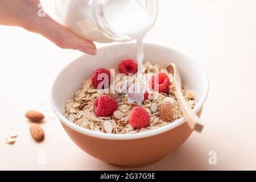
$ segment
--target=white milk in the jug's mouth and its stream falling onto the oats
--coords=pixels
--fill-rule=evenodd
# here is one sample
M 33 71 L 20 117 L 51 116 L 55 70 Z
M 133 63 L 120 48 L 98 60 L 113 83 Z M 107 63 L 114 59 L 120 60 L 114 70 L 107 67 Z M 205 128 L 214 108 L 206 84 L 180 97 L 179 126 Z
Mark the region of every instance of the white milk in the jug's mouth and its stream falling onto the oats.
M 104 14 L 106 23 L 111 30 L 117 35 L 125 35 L 137 40 L 137 63 L 138 63 L 138 92 L 137 103 L 143 102 L 141 93 L 142 87 L 142 70 L 143 70 L 143 39 L 147 32 L 151 29 L 153 20 L 147 13 L 146 9 L 139 1 L 134 0 L 109 0 L 104 5 Z M 129 97 L 128 97 L 129 98 Z M 129 102 L 133 102 L 132 98 Z

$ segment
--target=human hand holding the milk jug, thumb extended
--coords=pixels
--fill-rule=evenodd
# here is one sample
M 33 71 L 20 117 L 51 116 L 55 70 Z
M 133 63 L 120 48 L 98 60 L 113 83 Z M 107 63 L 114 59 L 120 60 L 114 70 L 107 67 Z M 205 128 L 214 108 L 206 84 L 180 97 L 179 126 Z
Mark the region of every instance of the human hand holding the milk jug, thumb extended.
M 0 24 L 18 26 L 43 35 L 60 48 L 96 55 L 92 41 L 81 38 L 49 15 L 39 16 L 39 0 L 0 0 Z

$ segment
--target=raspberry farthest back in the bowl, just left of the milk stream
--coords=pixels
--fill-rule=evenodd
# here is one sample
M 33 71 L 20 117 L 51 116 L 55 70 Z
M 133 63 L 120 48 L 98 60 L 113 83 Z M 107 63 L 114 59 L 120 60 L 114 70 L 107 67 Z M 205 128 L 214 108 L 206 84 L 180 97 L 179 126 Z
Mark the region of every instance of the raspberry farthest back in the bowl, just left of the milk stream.
M 123 60 L 118 66 L 119 72 L 129 75 L 129 73 L 138 72 L 138 64 L 132 59 Z

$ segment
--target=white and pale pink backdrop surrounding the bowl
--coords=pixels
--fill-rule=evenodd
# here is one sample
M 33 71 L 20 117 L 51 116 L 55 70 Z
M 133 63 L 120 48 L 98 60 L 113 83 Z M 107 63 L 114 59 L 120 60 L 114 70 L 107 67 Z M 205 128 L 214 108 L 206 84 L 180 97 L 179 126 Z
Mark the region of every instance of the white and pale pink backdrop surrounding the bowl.
M 51 12 L 52 2 L 43 2 Z M 176 47 L 195 57 L 208 72 L 210 93 L 202 115 L 203 133 L 192 134 L 159 163 L 137 169 L 255 170 L 256 1 L 159 3 L 158 22 L 146 42 Z M 48 103 L 53 78 L 81 54 L 57 48 L 21 28 L 0 26 L 0 169 L 125 169 L 81 151 L 53 118 Z M 47 115 L 42 143 L 36 143 L 28 132 L 30 122 L 23 117 L 28 109 Z M 5 143 L 11 123 L 19 133 L 12 146 Z M 209 151 L 217 152 L 217 165 L 208 163 Z M 46 154 L 43 165 L 38 163 L 42 152 Z

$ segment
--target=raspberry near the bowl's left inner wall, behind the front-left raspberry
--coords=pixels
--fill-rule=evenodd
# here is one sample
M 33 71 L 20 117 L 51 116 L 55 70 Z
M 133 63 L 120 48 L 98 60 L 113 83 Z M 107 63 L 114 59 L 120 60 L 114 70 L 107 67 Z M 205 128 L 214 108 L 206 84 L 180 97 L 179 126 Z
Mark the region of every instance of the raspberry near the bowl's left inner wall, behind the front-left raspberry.
M 112 80 L 111 78 L 112 78 L 112 75 L 107 69 L 99 68 L 93 72 L 92 84 L 96 89 L 108 89 L 109 85 L 111 84 L 111 80 Z M 100 83 L 102 85 L 100 85 L 98 88 L 98 85 Z

